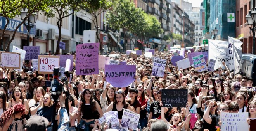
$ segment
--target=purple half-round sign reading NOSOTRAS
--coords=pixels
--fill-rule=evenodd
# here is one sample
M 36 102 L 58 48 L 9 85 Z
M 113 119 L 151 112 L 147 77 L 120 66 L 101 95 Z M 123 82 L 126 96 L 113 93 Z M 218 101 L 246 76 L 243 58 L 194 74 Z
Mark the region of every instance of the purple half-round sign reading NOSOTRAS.
M 135 79 L 135 65 L 105 65 L 106 81 L 114 87 L 127 87 Z

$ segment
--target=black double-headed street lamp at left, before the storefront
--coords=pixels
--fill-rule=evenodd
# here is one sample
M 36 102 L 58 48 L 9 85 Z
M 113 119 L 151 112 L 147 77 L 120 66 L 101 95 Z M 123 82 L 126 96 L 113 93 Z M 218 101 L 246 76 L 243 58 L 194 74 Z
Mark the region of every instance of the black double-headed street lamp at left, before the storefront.
M 25 17 L 28 15 L 28 9 L 27 8 L 23 8 L 21 10 L 21 20 L 24 20 Z M 28 34 L 27 34 L 27 46 L 29 46 L 29 35 L 30 35 L 30 29 L 32 29 L 34 27 L 34 23 L 36 23 L 36 20 L 37 20 L 37 13 L 32 13 L 32 15 L 30 15 L 28 17 L 28 24 L 24 23 L 25 27 L 27 28 L 28 30 Z M 31 23 L 31 25 L 30 25 Z

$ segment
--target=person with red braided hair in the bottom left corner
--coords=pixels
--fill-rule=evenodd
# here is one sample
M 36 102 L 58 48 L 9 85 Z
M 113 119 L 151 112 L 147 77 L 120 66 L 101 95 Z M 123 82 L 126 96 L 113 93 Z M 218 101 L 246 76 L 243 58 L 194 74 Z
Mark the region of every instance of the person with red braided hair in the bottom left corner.
M 10 107 L 0 116 L 0 130 L 7 131 L 14 119 L 20 119 L 24 115 L 24 112 L 25 107 L 21 103 Z

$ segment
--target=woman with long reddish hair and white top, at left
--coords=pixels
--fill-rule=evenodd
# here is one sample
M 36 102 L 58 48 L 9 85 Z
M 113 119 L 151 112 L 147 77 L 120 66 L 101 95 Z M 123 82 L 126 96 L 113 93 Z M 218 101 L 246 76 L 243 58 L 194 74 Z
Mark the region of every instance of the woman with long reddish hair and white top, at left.
M 29 101 L 29 110 L 31 116 L 35 115 L 38 108 L 43 104 L 43 96 L 45 96 L 45 90 L 43 87 L 38 87 L 36 89 L 36 94 L 34 95 L 33 99 Z

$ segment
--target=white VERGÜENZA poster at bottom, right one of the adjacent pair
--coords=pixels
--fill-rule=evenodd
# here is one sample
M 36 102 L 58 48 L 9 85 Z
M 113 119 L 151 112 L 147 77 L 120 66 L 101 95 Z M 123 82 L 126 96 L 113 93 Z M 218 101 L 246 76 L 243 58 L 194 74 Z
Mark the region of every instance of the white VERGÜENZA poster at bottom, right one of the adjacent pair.
M 136 130 L 139 120 L 140 114 L 136 114 L 128 109 L 124 109 L 123 117 L 121 119 L 121 126 Z

